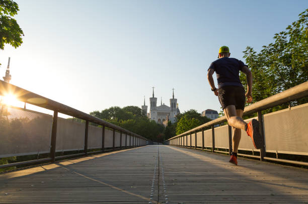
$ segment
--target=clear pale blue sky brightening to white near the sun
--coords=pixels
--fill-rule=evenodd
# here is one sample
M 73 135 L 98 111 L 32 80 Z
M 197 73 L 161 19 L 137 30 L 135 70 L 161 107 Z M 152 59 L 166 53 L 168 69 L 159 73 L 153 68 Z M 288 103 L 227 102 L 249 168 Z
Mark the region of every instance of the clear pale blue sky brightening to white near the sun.
M 24 43 L 11 57 L 11 83 L 89 113 L 149 106 L 152 86 L 181 112 L 220 111 L 206 73 L 222 45 L 243 59 L 298 19 L 308 1 L 16 1 Z M 149 109 L 149 108 L 148 108 Z

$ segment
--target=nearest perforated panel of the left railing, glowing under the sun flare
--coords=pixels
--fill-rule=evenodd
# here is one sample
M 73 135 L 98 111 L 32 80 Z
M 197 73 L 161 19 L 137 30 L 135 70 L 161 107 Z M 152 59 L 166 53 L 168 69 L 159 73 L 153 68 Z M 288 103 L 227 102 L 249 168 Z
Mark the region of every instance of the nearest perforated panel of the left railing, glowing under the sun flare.
M 50 151 L 52 116 L 0 104 L 0 158 Z

